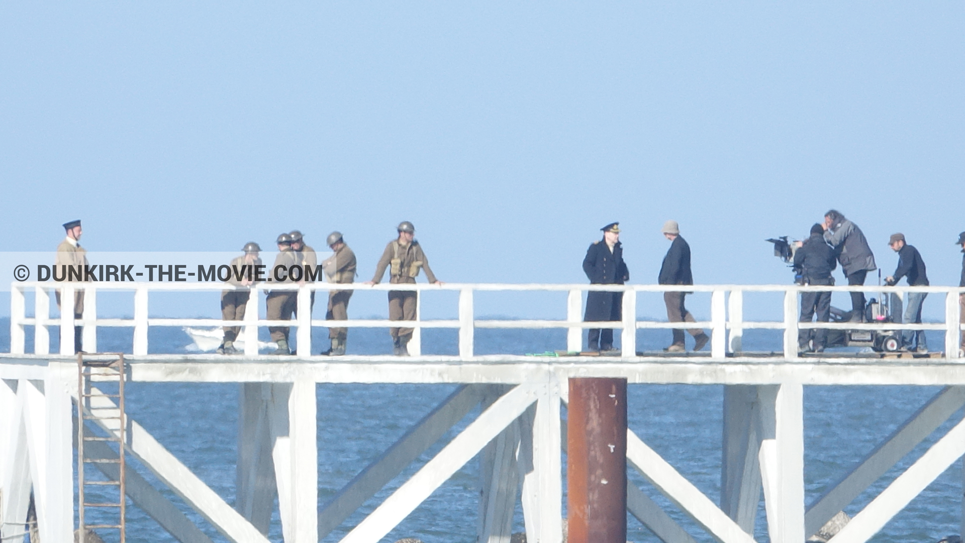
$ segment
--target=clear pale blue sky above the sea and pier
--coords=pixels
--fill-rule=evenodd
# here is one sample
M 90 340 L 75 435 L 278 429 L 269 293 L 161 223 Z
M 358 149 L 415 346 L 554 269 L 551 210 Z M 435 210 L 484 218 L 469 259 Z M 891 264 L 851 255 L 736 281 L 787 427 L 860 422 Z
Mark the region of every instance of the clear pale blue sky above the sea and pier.
M 5 3 L 0 250 L 233 251 L 401 220 L 449 282 L 584 282 L 620 221 L 652 283 L 786 283 L 830 207 L 957 284 L 965 5 Z M 932 304 L 941 314 L 940 304 Z M 926 304 L 927 310 L 927 304 Z

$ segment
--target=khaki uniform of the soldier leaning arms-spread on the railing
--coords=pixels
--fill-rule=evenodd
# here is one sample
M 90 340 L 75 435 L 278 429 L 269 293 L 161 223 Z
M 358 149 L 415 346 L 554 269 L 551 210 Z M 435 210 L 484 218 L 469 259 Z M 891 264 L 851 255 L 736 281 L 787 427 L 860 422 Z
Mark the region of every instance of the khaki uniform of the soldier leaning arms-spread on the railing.
M 419 242 L 412 240 L 408 245 L 402 245 L 398 239 L 394 239 L 385 246 L 382 258 L 379 258 L 375 265 L 375 277 L 372 283 L 379 283 L 385 268 L 389 269 L 389 283 L 392 284 L 412 284 L 416 282 L 419 269 L 426 270 L 426 278 L 429 283 L 435 283 L 435 274 L 428 267 L 428 259 L 423 253 Z M 390 290 L 389 291 L 389 320 L 415 320 L 416 319 L 416 292 L 414 290 Z M 393 338 L 408 339 L 412 336 L 411 328 L 390 328 L 389 335 Z

